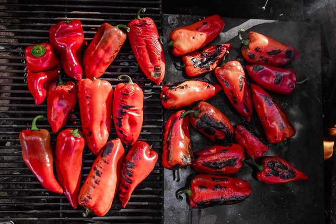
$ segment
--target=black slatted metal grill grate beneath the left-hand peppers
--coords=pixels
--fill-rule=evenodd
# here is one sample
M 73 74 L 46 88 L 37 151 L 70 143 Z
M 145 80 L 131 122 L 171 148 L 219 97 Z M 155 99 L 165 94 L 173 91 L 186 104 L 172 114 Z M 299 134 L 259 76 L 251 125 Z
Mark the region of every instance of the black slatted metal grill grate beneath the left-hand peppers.
M 16 223 L 162 223 L 163 168 L 154 171 L 138 186 L 126 209 L 121 209 L 116 196 L 105 217 L 83 218 L 83 208 L 74 210 L 65 196 L 45 190 L 22 161 L 18 134 L 29 128 L 37 114 L 46 117 L 46 104 L 36 106 L 25 80 L 24 49 L 48 42 L 49 27 L 60 20 L 80 19 L 85 40 L 89 42 L 103 22 L 125 24 L 134 19 L 140 7 L 152 17 L 161 30 L 161 0 L 0 0 L 0 220 Z M 83 47 L 84 53 L 86 46 Z M 159 95 L 161 86 L 154 85 L 139 70 L 126 40 L 121 52 L 102 79 L 113 87 L 117 75 L 130 75 L 145 94 L 144 124 L 139 140 L 162 147 L 163 109 Z M 63 74 L 65 80 L 67 77 Z M 81 127 L 78 105 L 66 127 Z M 38 123 L 51 131 L 46 118 Z M 65 127 L 65 128 L 66 128 Z M 57 134 L 51 133 L 55 147 Z M 115 138 L 112 125 L 110 138 Z M 85 148 L 82 183 L 95 156 Z

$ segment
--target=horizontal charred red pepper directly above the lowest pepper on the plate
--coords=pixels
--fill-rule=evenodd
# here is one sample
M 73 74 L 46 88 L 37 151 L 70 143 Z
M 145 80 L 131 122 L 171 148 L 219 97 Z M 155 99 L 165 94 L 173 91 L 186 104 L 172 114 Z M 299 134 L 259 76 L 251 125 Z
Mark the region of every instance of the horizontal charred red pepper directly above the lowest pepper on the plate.
M 244 159 L 242 146 L 229 143 L 213 146 L 194 153 L 191 168 L 199 173 L 229 175 L 237 173 Z

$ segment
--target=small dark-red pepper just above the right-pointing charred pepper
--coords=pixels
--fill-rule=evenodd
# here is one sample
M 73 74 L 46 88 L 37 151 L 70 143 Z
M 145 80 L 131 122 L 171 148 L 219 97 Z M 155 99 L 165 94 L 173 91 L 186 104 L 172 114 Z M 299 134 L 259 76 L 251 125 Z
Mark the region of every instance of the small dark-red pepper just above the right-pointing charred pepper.
M 253 132 L 241 124 L 237 124 L 234 134 L 235 141 L 241 145 L 248 157 L 259 158 L 269 147 Z

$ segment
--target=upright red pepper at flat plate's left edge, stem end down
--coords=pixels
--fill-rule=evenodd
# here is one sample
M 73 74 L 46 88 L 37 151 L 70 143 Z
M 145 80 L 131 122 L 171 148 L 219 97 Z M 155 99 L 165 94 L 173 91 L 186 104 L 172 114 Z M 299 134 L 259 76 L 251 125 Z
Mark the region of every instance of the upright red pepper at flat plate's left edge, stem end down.
M 189 138 L 189 116 L 182 118 L 184 112 L 178 111 L 169 116 L 162 149 L 162 166 L 172 170 L 174 177 L 177 170 L 177 182 L 181 168 L 190 166 L 194 159 Z

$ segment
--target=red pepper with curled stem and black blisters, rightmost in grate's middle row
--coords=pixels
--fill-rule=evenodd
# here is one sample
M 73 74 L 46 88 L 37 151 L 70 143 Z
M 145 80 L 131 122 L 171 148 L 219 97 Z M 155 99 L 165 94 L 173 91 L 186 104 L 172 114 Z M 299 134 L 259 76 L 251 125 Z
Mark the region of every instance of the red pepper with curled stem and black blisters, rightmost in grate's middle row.
M 143 122 L 143 92 L 128 75 L 127 83 L 119 83 L 114 89 L 112 116 L 118 137 L 127 146 L 133 145 L 140 136 Z

